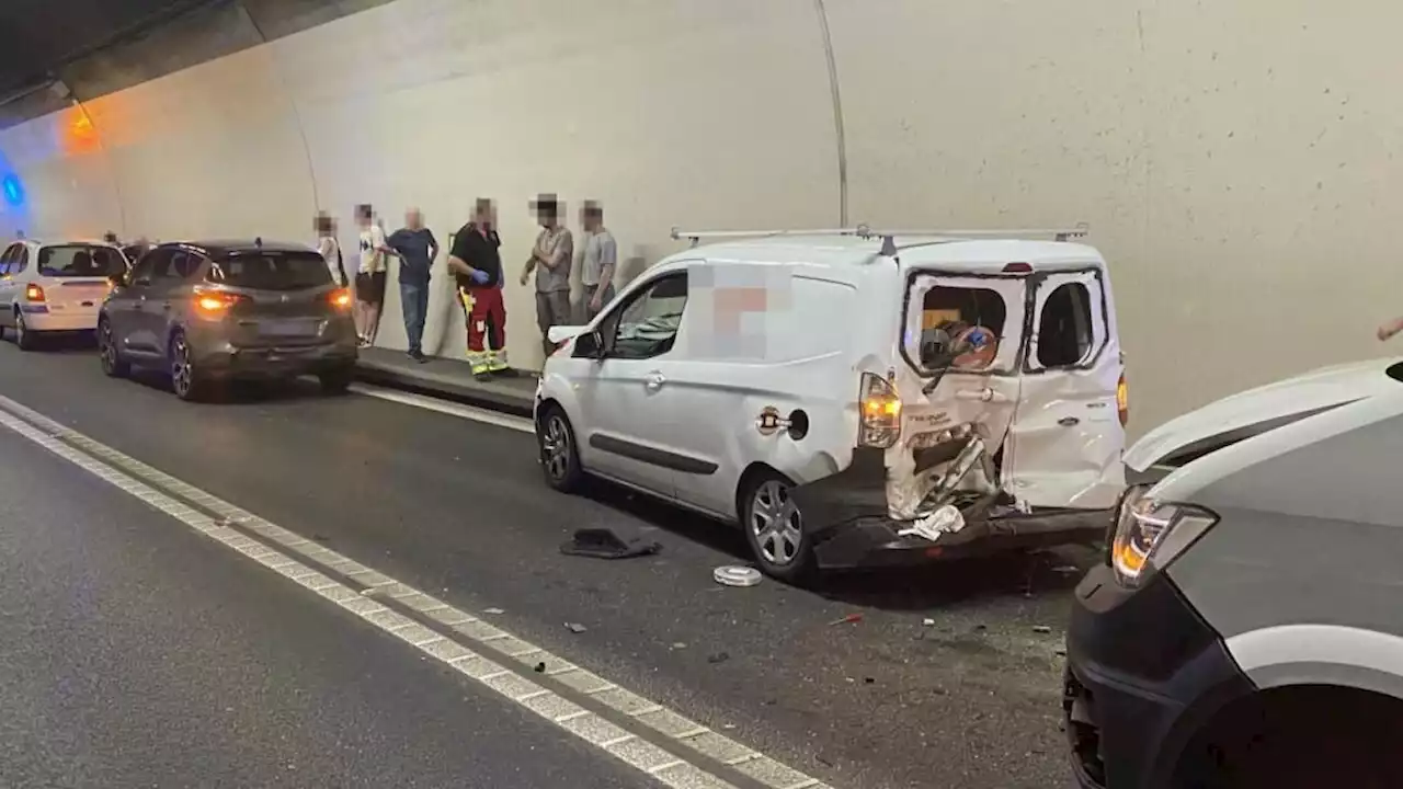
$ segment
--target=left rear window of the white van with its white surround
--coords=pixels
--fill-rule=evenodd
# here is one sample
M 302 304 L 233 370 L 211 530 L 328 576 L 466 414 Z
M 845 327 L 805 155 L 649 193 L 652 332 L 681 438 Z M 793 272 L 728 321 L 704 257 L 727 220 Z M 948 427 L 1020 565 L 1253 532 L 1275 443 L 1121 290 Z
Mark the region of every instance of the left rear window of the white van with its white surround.
M 1021 277 L 916 277 L 902 343 L 906 359 L 922 375 L 1013 369 L 1024 293 Z

